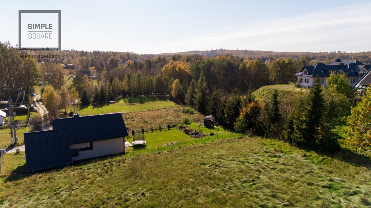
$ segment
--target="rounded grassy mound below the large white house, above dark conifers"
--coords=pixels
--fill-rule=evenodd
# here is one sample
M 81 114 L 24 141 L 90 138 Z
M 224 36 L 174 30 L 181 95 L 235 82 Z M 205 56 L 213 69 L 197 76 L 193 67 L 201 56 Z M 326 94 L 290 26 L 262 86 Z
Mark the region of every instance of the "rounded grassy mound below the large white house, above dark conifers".
M 292 98 L 295 94 L 300 92 L 308 92 L 306 88 L 293 87 L 291 84 L 276 84 L 265 85 L 253 92 L 256 100 L 267 100 L 272 95 L 273 91 L 277 89 L 280 98 Z

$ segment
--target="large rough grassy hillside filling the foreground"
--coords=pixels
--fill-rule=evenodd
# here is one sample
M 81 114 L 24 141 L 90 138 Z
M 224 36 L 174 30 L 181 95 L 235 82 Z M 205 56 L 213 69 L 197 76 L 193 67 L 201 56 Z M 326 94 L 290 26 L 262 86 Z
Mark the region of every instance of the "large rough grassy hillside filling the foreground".
M 0 187 L 0 203 L 353 207 L 371 205 L 369 178 L 370 157 L 343 152 L 331 158 L 276 140 L 224 139 L 8 178 Z

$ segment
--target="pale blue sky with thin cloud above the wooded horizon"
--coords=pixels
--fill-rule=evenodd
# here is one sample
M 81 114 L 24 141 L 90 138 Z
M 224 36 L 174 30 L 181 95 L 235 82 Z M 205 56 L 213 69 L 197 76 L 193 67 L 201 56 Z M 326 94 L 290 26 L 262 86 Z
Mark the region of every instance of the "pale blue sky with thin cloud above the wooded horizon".
M 0 41 L 13 46 L 18 10 L 62 10 L 62 50 L 371 49 L 369 0 L 2 0 L 0 5 Z

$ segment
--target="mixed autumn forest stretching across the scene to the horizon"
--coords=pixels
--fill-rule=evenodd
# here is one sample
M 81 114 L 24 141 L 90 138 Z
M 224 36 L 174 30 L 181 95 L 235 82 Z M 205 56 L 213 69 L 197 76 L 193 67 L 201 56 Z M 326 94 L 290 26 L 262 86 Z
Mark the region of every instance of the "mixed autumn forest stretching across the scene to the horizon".
M 339 145 L 331 135 L 332 127 L 344 122 L 351 115 L 352 107 L 360 104 L 345 74 L 331 74 L 329 87 L 324 89 L 317 80 L 309 93 L 300 93 L 289 99 L 278 98 L 275 92 L 269 101 L 261 102 L 255 100 L 252 92 L 264 85 L 293 83 L 296 81 L 294 74 L 308 64 L 329 63 L 338 57 L 368 64 L 371 56 L 371 52 L 342 51 L 196 52 L 139 55 L 65 50 L 26 54 L 9 42 L 0 43 L 1 98 L 6 100 L 9 96 L 17 96 L 22 87 L 29 94 L 39 81 L 43 81 L 43 103 L 54 117 L 60 117 L 67 116 L 72 103 L 91 105 L 117 97 L 170 94 L 178 104 L 188 105 L 206 115 L 215 115 L 227 129 L 334 151 Z M 50 55 L 58 58 L 49 58 Z M 62 64 L 73 64 L 75 68 L 65 69 Z M 80 70 L 90 71 L 94 79 L 79 73 Z M 66 77 L 69 76 L 74 77 L 67 85 Z M 352 144 L 356 148 L 362 146 L 360 143 Z

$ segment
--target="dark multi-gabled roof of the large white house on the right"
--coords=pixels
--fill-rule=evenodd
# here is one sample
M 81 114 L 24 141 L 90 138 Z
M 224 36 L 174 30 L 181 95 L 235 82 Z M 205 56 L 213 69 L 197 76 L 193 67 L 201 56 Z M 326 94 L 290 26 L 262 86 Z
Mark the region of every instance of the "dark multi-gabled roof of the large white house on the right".
M 312 66 L 304 66 L 302 70 L 296 73 L 296 76 L 301 76 L 303 71 L 307 71 L 309 77 L 329 77 L 331 71 L 344 72 L 348 74 L 348 77 L 359 77 L 359 71 L 365 67 L 367 70 L 370 69 L 369 65 L 362 64 L 356 60 L 335 60 L 329 64 L 316 63 Z

